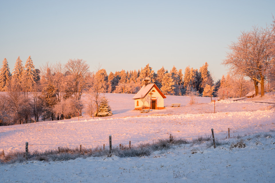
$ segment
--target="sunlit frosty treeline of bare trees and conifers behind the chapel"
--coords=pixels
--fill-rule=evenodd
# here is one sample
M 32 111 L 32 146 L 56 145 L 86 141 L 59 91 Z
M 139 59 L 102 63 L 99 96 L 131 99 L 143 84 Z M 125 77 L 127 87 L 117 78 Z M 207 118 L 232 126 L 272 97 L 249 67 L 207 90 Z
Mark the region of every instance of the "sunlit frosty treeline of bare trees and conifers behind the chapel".
M 82 110 L 90 117 L 98 116 L 102 113 L 99 111 L 100 103 L 106 101 L 101 93 L 137 93 L 144 85 L 146 73 L 151 78 L 150 83 L 156 83 L 165 95 L 222 98 L 223 89 L 235 97 L 243 96 L 249 90 L 249 84 L 251 86 L 251 82 L 244 77 L 240 83 L 238 78 L 229 75 L 214 82 L 207 63 L 200 69 L 188 66 L 184 73 L 175 66 L 170 72 L 164 67 L 155 72 L 147 64 L 137 71 L 121 70 L 108 75 L 100 65 L 91 72 L 82 59 L 69 59 L 66 64 L 46 63 L 40 69 L 35 69 L 31 57 L 27 59 L 25 67 L 18 57 L 10 73 L 7 60 L 4 59 L 0 70 L 0 89 L 3 92 L 0 97 L 0 123 L 59 120 L 81 116 Z M 85 100 L 81 100 L 83 95 Z

